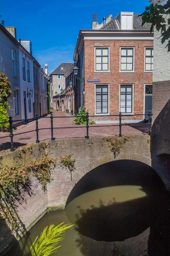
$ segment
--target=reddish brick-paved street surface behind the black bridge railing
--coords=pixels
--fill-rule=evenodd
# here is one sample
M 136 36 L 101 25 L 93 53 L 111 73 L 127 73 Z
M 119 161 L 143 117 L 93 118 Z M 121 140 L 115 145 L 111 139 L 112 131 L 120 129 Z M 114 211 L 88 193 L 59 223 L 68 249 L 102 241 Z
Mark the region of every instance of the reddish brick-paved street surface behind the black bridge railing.
M 54 129 L 54 137 L 58 138 L 82 138 L 86 136 L 86 127 L 73 125 L 72 121 L 74 117 L 68 117 L 67 113 L 54 111 L 53 116 L 62 116 L 63 118 L 54 118 L 53 119 L 53 127 Z M 38 121 L 39 126 L 39 140 L 50 140 L 51 139 L 51 121 L 50 115 L 45 118 L 41 118 Z M 109 137 L 109 136 L 117 136 L 119 135 L 119 126 L 109 126 L 99 125 L 99 127 L 94 127 L 95 125 L 91 125 L 89 127 L 89 137 Z M 62 128 L 69 127 L 69 128 Z M 14 132 L 14 146 L 18 147 L 21 145 L 31 144 L 36 142 L 36 125 L 35 121 L 28 123 L 27 125 L 22 125 Z M 48 129 L 42 129 L 48 128 Z M 148 124 L 146 125 L 126 125 L 122 126 L 122 134 L 130 135 L 130 134 L 142 134 L 148 131 Z M 23 133 L 23 134 L 21 134 Z M 1 138 L 3 136 L 7 136 L 9 133 L 0 133 L 0 151 L 6 150 L 10 148 L 10 137 Z

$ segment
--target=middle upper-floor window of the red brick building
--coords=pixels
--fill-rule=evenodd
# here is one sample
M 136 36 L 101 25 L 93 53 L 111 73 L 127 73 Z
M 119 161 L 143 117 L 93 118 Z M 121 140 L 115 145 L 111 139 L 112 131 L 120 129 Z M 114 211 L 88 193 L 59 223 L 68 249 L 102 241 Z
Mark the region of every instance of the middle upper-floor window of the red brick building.
M 133 71 L 133 48 L 121 48 L 121 71 Z

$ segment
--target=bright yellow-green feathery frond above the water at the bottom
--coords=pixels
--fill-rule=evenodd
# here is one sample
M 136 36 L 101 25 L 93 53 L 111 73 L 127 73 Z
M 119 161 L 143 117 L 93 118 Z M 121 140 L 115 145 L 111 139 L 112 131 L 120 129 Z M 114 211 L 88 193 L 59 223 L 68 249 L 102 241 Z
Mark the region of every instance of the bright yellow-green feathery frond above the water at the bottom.
M 57 226 L 51 224 L 49 227 L 45 227 L 40 238 L 37 236 L 30 247 L 31 256 L 49 256 L 56 252 L 61 247 L 61 245 L 58 246 L 59 242 L 65 238 L 65 230 L 73 226 L 63 222 Z

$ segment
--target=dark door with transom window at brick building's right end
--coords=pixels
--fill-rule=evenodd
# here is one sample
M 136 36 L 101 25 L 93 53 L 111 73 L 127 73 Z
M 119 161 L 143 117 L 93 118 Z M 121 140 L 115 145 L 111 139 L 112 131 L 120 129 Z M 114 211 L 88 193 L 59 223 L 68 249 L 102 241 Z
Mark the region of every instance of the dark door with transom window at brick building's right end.
M 152 84 L 145 84 L 145 111 L 144 118 L 148 120 L 148 113 L 152 112 Z

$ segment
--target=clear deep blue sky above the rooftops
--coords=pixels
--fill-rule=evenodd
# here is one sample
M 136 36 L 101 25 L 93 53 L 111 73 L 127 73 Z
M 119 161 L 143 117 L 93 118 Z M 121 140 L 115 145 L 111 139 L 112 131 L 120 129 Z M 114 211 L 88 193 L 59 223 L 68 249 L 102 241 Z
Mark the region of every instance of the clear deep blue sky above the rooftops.
M 33 55 L 51 73 L 61 62 L 73 62 L 79 29 L 119 12 L 144 12 L 148 0 L 0 0 L 1 20 L 17 28 L 17 40 L 31 40 Z

